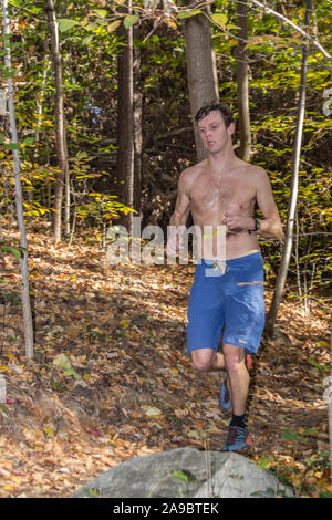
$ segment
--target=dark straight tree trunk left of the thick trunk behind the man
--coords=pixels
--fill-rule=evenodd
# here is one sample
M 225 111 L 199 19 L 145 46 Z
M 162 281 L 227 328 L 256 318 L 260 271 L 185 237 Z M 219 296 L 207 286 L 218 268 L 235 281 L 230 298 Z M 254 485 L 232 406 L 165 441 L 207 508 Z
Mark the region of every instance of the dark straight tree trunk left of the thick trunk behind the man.
M 132 0 L 127 1 L 127 14 L 132 14 Z M 125 206 L 134 206 L 134 73 L 133 73 L 133 27 L 121 29 L 125 45 L 118 55 L 117 98 L 117 166 L 116 193 Z M 132 214 L 126 221 L 132 231 Z

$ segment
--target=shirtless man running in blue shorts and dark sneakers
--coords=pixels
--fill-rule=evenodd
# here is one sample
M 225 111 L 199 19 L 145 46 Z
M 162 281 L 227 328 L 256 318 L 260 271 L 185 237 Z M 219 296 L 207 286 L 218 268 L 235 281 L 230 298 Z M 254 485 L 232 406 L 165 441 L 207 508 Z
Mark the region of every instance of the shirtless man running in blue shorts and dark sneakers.
M 283 231 L 267 173 L 240 160 L 232 149 L 235 124 L 224 103 L 204 106 L 196 115 L 208 156 L 186 168 L 170 226 L 185 226 L 189 211 L 196 226 L 226 226 L 226 261 L 201 253 L 188 302 L 187 350 L 198 371 L 226 371 L 220 406 L 232 410 L 224 451 L 251 444 L 246 425 L 250 354 L 256 354 L 264 326 L 263 268 L 257 233 L 282 239 Z M 263 219 L 253 218 L 256 204 Z M 203 235 L 204 236 L 204 235 Z M 167 254 L 180 249 L 172 235 Z M 218 351 L 222 337 L 222 352 Z

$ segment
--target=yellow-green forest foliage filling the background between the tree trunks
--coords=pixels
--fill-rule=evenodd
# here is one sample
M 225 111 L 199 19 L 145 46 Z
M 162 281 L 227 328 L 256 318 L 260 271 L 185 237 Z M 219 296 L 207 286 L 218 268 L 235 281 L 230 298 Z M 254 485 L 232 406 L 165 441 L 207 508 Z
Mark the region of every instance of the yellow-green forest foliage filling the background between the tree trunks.
M 331 53 L 331 2 L 317 3 L 312 15 L 315 33 Z M 186 8 L 181 2 L 177 6 L 178 12 L 160 15 L 158 10 L 145 11 L 142 1 L 134 2 L 133 14 L 126 12 L 122 0 L 56 2 L 70 176 L 75 196 L 71 211 L 72 217 L 77 211 L 79 221 L 100 227 L 129 211 L 114 196 L 112 179 L 116 164 L 117 55 L 123 49 L 117 29 L 133 25 L 134 46 L 141 53 L 138 92 L 144 107 L 143 141 L 154 133 L 143 157 L 142 209 L 147 221 L 151 215 L 157 216 L 158 223 L 168 221 L 179 171 L 196 160 L 193 133 L 178 136 L 172 133 L 191 124 L 183 25 L 186 19 L 201 11 Z M 294 23 L 303 25 L 302 4 L 286 2 L 283 9 Z M 3 66 L 3 50 L 0 49 L 0 75 L 2 86 L 9 75 L 14 80 L 19 144 L 9 143 L 7 122 L 7 127 L 0 128 L 3 167 L 0 210 L 4 217 L 13 212 L 11 153 L 17 148 L 22 160 L 25 216 L 49 219 L 58 170 L 55 84 L 50 51 L 44 44 L 49 39 L 44 6 L 32 0 L 11 1 L 10 18 L 13 20 L 12 67 Z M 236 2 L 216 0 L 211 4 L 210 21 L 220 98 L 235 108 L 237 116 Z M 303 38 L 276 17 L 257 9 L 249 10 L 248 25 L 251 160 L 268 171 L 286 223 Z M 291 288 L 298 278 L 304 293 L 308 280 L 312 281 L 311 290 L 324 290 L 331 257 L 326 236 L 320 233 L 330 232 L 332 218 L 328 153 L 332 118 L 322 111 L 323 93 L 332 86 L 332 80 L 323 56 L 317 49 L 311 48 L 311 51 L 298 201 L 298 263 L 293 256 L 289 275 L 291 295 L 297 292 Z M 169 98 L 175 101 L 158 123 Z M 169 137 L 158 141 L 158 135 L 163 134 Z M 272 283 L 282 248 L 266 241 L 261 243 L 268 280 Z

